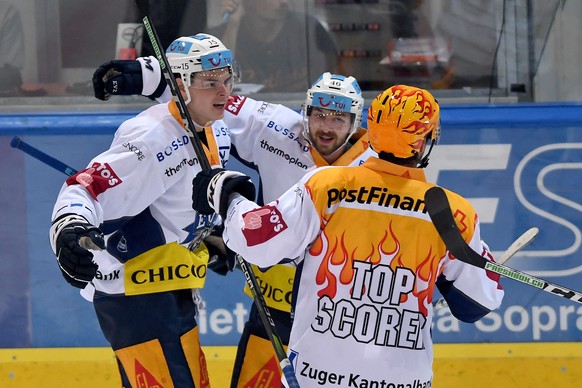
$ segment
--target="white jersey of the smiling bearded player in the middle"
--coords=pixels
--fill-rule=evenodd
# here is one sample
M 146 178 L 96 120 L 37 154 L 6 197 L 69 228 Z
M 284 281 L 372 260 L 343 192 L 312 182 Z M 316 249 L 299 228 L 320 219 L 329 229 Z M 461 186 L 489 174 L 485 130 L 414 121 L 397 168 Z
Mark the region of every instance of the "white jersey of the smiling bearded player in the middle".
M 303 116 L 279 104 L 231 96 L 224 115 L 230 130 L 233 155 L 260 175 L 259 203 L 283 194 L 307 172 L 329 163 L 303 137 Z M 376 153 L 369 147 L 365 130 L 352 136 L 351 147 L 332 165 L 358 166 Z M 290 311 L 295 270 L 276 266 L 255 274 L 267 305 Z M 250 291 L 245 289 L 248 295 Z

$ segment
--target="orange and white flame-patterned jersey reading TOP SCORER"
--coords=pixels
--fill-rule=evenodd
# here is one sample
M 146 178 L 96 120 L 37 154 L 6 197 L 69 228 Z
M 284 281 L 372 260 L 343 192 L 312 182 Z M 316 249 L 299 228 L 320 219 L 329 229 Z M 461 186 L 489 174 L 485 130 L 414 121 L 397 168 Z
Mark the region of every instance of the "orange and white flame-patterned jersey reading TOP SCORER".
M 257 208 L 237 197 L 227 245 L 260 267 L 299 257 L 289 357 L 301 386 L 432 386 L 435 286 L 472 322 L 503 298 L 498 277 L 450 256 L 424 206 L 422 170 L 370 158 L 306 175 Z M 465 240 L 479 221 L 447 191 Z

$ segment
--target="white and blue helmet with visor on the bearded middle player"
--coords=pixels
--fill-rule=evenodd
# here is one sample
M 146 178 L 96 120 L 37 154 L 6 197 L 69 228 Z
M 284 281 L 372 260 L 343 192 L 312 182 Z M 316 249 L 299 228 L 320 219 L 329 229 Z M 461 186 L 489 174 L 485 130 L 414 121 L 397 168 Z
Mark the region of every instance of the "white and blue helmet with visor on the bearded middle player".
M 309 116 L 312 108 L 329 109 L 351 113 L 351 128 L 346 139 L 362 125 L 364 98 L 358 81 L 352 76 L 323 73 L 307 90 L 303 112 L 303 136 L 309 140 Z

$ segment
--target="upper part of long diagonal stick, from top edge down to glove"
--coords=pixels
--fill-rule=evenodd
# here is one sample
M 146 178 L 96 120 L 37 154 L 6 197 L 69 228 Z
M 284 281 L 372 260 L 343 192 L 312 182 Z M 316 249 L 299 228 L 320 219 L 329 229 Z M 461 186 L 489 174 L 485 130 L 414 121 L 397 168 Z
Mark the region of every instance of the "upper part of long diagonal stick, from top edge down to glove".
M 156 58 L 160 63 L 160 68 L 162 73 L 164 74 L 164 78 L 170 87 L 170 91 L 172 92 L 172 98 L 176 102 L 178 110 L 180 111 L 180 116 L 182 117 L 182 121 L 184 123 L 184 127 L 188 132 L 188 136 L 192 142 L 192 146 L 194 147 L 194 152 L 196 153 L 196 157 L 200 162 L 200 166 L 203 170 L 210 170 L 210 162 L 204 153 L 204 149 L 202 148 L 202 143 L 200 142 L 200 138 L 196 133 L 196 128 L 194 126 L 194 122 L 192 121 L 192 117 L 190 117 L 190 112 L 188 112 L 188 108 L 186 107 L 186 102 L 184 101 L 184 97 L 178 88 L 178 83 L 176 82 L 176 78 L 172 74 L 172 68 L 170 67 L 170 63 L 168 62 L 168 58 L 166 57 L 166 53 L 162 47 L 160 42 L 160 37 L 150 20 L 149 17 L 149 6 L 148 0 L 135 0 L 138 10 L 142 14 L 142 21 L 145 30 L 148 33 L 148 37 L 150 38 L 150 42 L 152 43 L 152 48 L 154 53 L 156 54 Z

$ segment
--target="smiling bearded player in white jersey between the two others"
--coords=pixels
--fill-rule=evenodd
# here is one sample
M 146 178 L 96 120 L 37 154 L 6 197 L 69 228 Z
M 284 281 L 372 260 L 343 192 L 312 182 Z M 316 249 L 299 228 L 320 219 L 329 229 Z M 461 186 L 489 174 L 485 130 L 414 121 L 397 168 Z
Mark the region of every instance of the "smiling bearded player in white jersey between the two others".
M 95 96 L 141 93 L 160 100 L 165 81 L 152 68 L 135 61 L 103 64 L 94 76 Z M 143 79 L 143 84 L 142 84 Z M 148 92 L 145 92 L 148 91 Z M 155 91 L 155 92 L 154 92 Z M 357 166 L 376 155 L 361 126 L 364 99 L 353 77 L 324 73 L 306 93 L 303 112 L 288 107 L 231 96 L 224 120 L 230 130 L 232 154 L 260 176 L 259 203 L 274 200 L 305 173 L 321 166 Z M 230 263 L 234 261 L 231 260 Z M 291 294 L 294 265 L 277 265 L 268 271 L 253 270 L 265 291 L 271 316 L 285 345 L 291 329 Z M 250 291 L 245 289 L 247 294 Z M 253 304 L 242 333 L 231 387 L 246 387 L 258 377 L 265 388 L 280 386 L 276 355 Z

